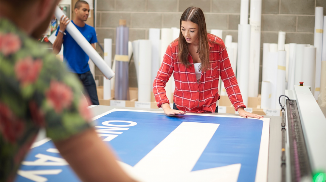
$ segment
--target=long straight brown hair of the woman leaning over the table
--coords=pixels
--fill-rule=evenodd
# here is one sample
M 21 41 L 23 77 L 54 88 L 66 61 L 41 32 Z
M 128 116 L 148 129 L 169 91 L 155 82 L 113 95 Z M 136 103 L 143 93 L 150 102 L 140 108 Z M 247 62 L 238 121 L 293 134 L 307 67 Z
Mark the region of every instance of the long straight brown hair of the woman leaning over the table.
M 199 7 L 188 7 L 182 14 L 180 18 L 180 34 L 178 38 L 178 58 L 180 62 L 186 67 L 190 66 L 188 61 L 189 46 L 185 41 L 185 37 L 181 33 L 181 21 L 191 21 L 198 24 L 199 27 L 199 45 L 197 52 L 199 53 L 199 58 L 201 60 L 200 70 L 206 71 L 210 68 L 209 63 L 209 45 L 207 39 L 206 22 L 203 11 Z

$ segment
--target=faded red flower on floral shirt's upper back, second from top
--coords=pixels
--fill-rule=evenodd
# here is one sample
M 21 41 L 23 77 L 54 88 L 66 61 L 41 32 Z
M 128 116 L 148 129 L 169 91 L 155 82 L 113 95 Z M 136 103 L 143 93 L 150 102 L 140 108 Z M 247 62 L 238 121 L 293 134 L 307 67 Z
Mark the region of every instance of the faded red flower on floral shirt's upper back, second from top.
M 19 60 L 15 64 L 17 79 L 21 81 L 23 86 L 34 83 L 41 71 L 42 64 L 41 60 L 37 59 L 34 61 L 31 57 Z

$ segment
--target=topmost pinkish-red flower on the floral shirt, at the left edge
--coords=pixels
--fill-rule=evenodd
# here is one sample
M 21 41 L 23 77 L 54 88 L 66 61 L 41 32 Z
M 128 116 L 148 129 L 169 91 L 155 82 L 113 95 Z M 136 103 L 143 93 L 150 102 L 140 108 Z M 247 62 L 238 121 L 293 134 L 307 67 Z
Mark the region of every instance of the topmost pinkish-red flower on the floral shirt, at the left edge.
M 22 41 L 18 35 L 8 33 L 0 34 L 0 52 L 5 56 L 17 52 L 22 47 Z

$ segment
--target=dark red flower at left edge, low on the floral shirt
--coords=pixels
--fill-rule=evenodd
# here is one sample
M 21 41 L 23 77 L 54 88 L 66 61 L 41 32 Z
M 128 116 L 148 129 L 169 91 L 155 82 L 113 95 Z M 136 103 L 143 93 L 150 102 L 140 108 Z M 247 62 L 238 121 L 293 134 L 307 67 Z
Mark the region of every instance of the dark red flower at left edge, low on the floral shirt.
M 15 117 L 7 105 L 0 103 L 0 131 L 6 141 L 14 144 L 22 136 L 25 123 Z

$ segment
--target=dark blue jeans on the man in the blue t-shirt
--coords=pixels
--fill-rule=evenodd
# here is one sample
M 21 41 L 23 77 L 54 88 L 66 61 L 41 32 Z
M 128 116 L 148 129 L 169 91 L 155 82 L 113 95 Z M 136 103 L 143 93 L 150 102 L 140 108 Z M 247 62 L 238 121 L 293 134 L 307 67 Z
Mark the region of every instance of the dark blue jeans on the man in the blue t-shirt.
M 96 84 L 91 71 L 83 74 L 77 74 L 79 79 L 82 81 L 85 90 L 87 91 L 89 98 L 92 101 L 92 105 L 99 105 L 96 91 Z M 89 103 L 90 104 L 90 103 Z

